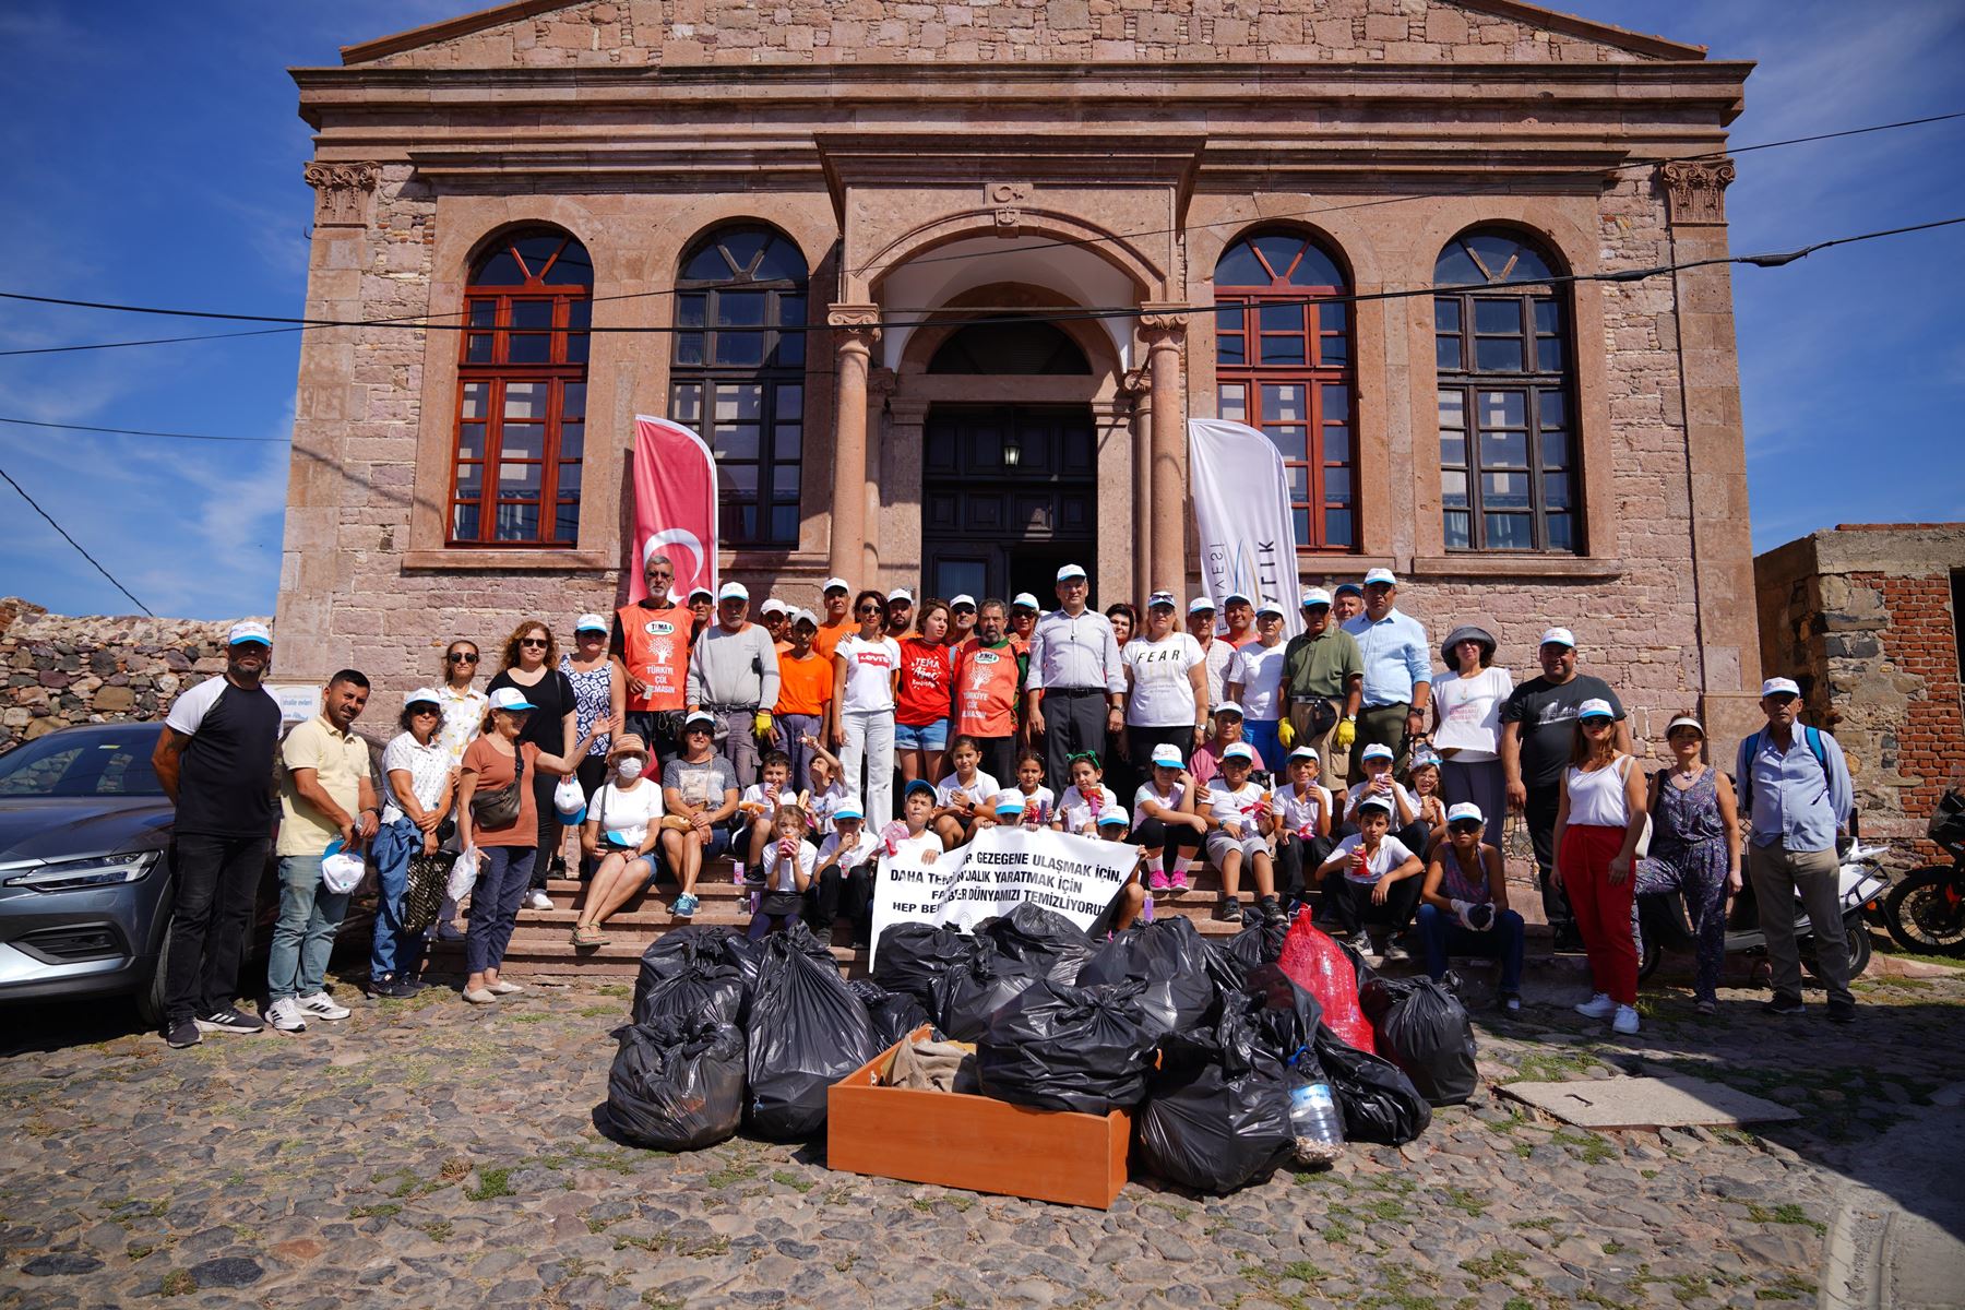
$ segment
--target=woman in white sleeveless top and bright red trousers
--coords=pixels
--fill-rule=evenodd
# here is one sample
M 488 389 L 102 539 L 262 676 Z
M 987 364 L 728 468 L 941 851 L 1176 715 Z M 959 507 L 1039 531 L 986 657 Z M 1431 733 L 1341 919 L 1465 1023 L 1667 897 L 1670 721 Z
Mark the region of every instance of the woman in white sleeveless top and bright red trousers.
M 1645 831 L 1645 774 L 1637 760 L 1617 750 L 1617 717 L 1609 701 L 1578 705 L 1572 733 L 1556 809 L 1556 882 L 1576 909 L 1596 988 L 1576 1013 L 1609 1019 L 1611 1031 L 1629 1037 L 1637 1031 L 1637 939 L 1631 935 L 1637 880 L 1631 874 Z

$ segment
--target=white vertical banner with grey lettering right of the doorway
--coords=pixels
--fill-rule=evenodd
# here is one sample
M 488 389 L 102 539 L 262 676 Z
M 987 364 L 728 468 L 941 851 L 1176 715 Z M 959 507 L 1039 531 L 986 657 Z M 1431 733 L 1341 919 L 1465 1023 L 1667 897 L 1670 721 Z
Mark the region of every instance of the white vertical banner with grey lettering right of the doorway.
M 1226 418 L 1187 420 L 1187 483 L 1195 493 L 1201 585 L 1220 609 L 1240 591 L 1283 605 L 1283 630 L 1303 630 L 1297 528 L 1283 454 L 1267 436 Z

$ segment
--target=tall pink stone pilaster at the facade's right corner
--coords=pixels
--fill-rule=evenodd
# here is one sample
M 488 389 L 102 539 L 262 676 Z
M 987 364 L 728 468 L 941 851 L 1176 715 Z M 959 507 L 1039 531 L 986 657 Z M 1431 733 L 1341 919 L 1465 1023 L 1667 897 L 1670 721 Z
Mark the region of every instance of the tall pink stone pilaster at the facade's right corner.
M 1662 167 L 1672 263 L 1725 257 L 1731 159 L 1678 159 Z M 1759 723 L 1761 636 L 1747 519 L 1747 446 L 1739 409 L 1733 283 L 1725 265 L 1672 275 L 1678 383 L 1686 420 L 1686 497 L 1692 532 L 1700 697 L 1712 740 L 1737 740 Z

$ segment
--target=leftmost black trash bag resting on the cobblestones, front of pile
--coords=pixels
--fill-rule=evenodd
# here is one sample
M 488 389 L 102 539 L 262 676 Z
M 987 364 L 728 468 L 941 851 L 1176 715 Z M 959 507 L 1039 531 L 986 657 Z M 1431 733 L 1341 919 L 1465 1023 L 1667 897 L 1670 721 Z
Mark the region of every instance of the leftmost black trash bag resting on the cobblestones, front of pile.
M 745 1041 L 733 1023 L 662 1017 L 615 1029 L 607 1118 L 656 1151 L 702 1151 L 743 1121 Z

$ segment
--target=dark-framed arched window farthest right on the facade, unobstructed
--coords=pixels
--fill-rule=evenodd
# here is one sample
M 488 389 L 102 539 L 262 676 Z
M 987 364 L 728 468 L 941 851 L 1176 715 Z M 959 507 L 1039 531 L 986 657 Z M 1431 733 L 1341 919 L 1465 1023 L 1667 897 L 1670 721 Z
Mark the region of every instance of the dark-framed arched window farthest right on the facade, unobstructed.
M 1432 269 L 1448 550 L 1580 552 L 1568 297 L 1513 232 L 1464 232 Z M 1501 283 L 1507 283 L 1505 287 Z

